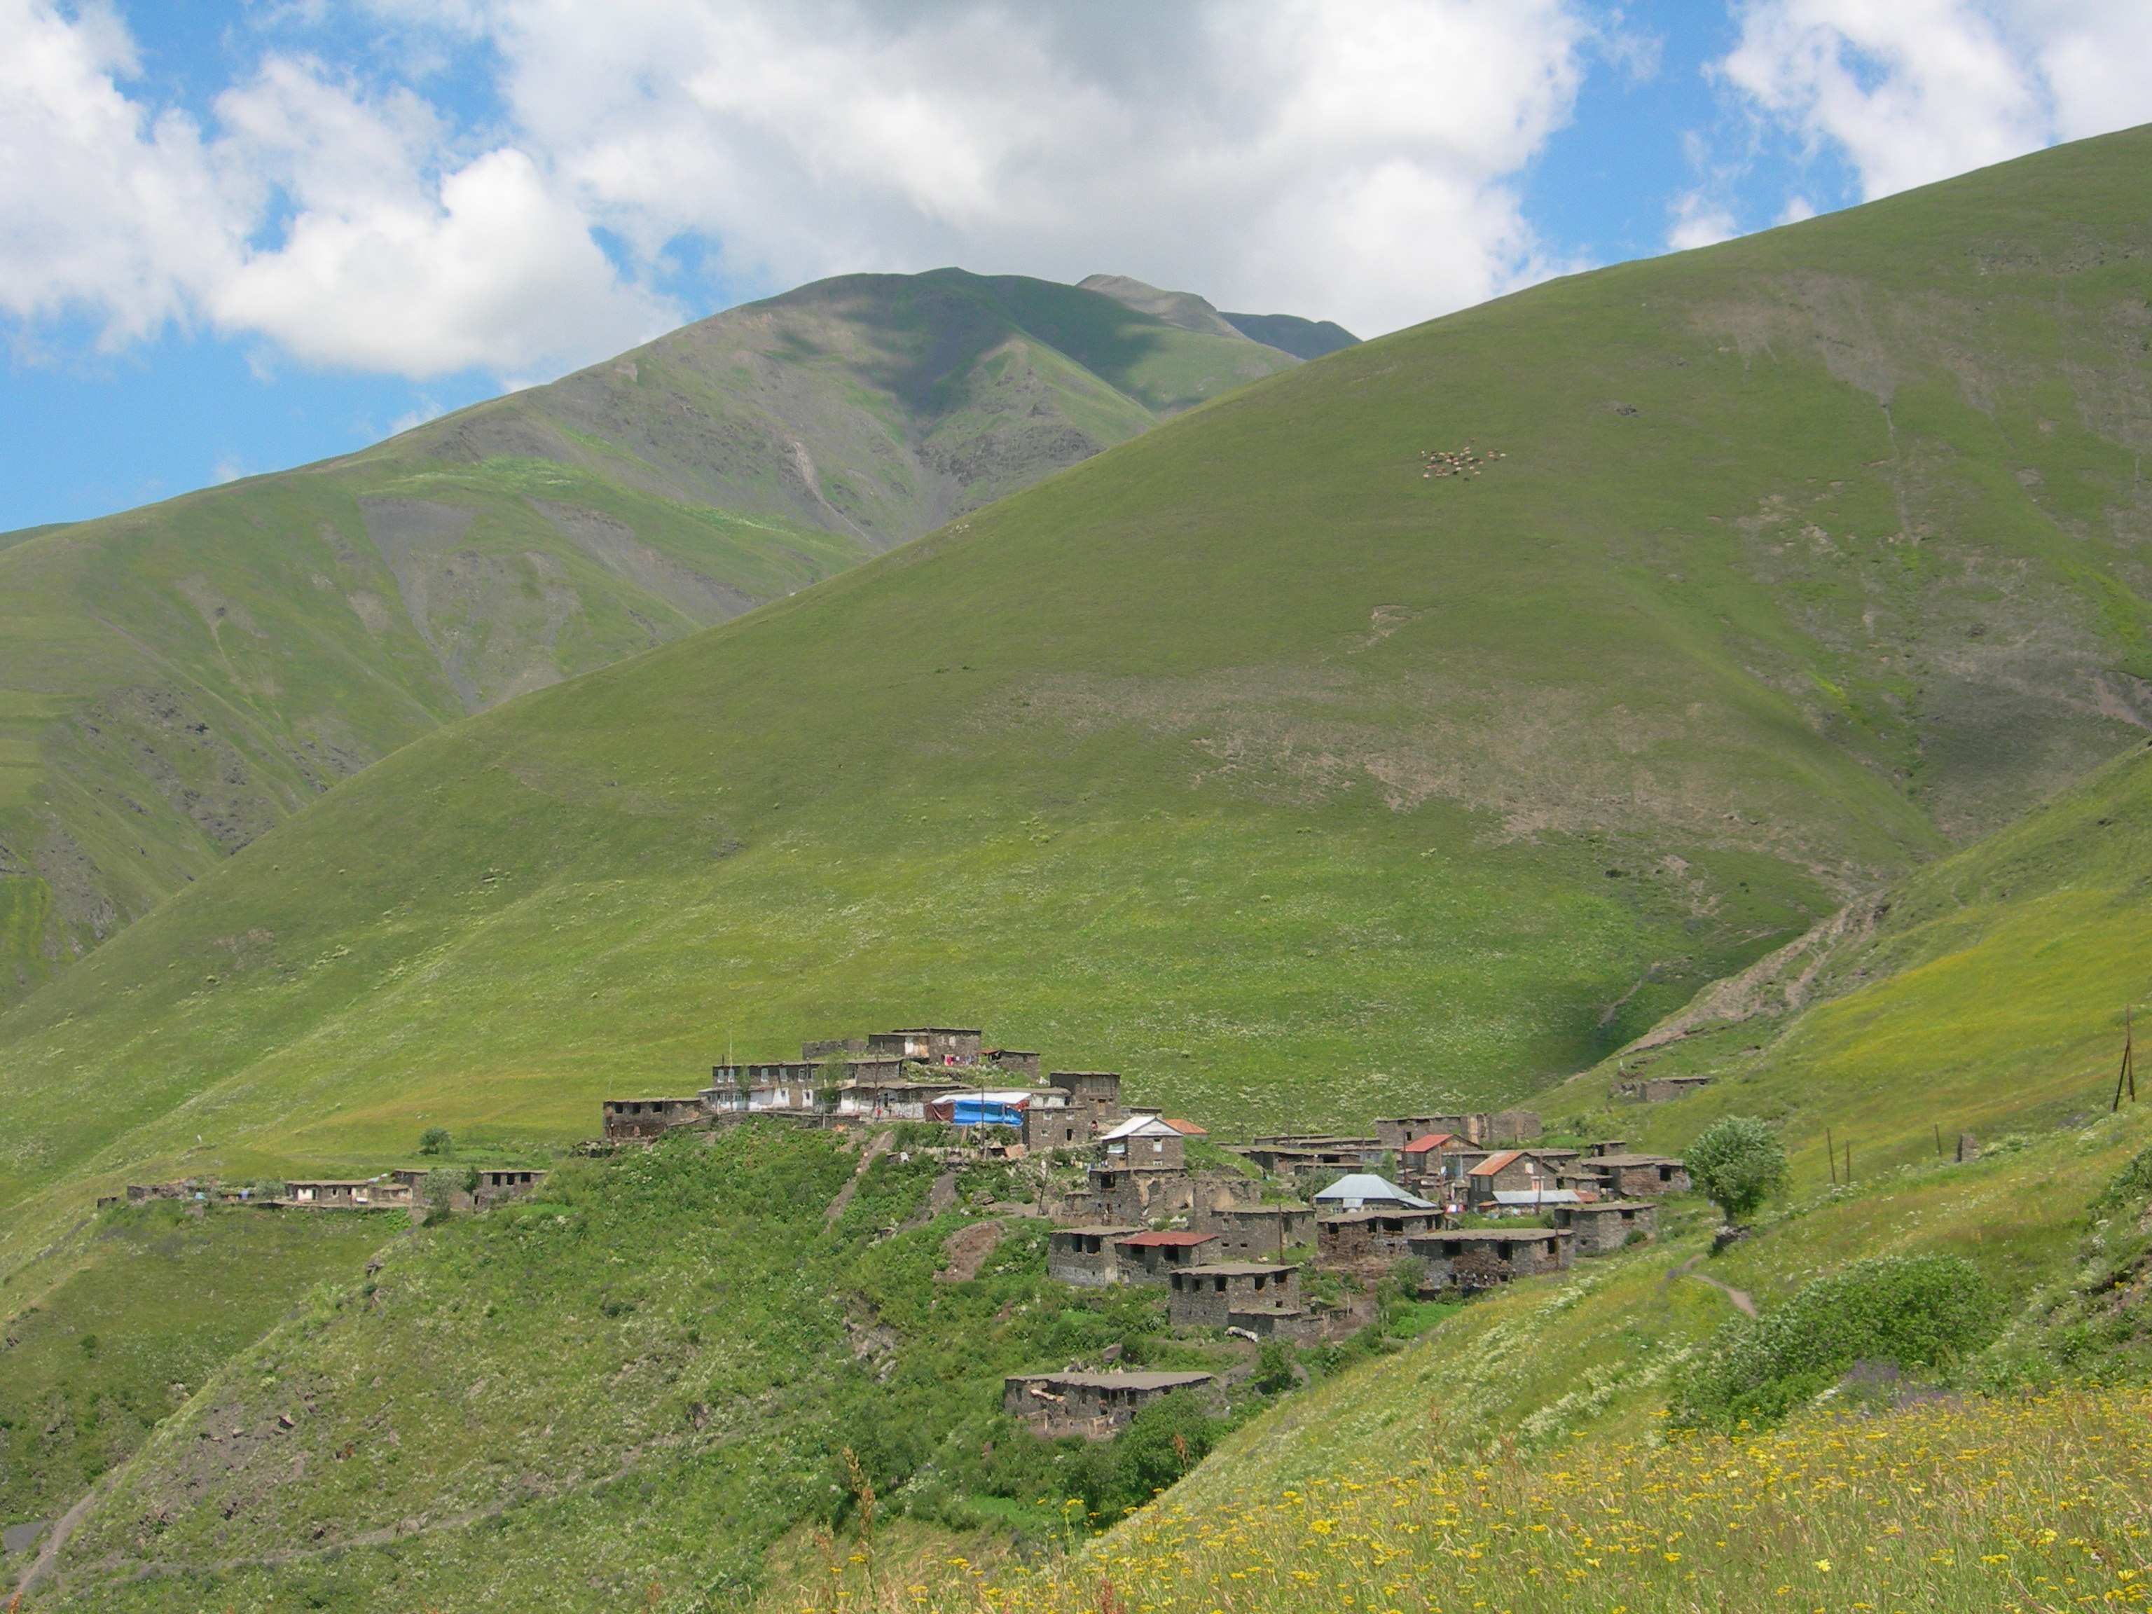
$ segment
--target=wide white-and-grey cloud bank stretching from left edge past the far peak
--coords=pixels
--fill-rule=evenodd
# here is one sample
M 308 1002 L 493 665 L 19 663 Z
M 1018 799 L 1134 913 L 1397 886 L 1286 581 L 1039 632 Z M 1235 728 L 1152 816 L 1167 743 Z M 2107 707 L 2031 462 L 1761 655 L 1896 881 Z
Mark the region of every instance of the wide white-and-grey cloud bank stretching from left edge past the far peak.
M 103 11 L 0 0 L 0 310 L 542 374 L 661 327 L 684 252 L 773 288 L 1110 269 L 1375 334 L 1549 271 L 1515 183 L 1569 116 L 1575 4 L 372 0 L 501 65 L 478 138 L 362 82 L 424 45 L 271 54 L 198 125 Z

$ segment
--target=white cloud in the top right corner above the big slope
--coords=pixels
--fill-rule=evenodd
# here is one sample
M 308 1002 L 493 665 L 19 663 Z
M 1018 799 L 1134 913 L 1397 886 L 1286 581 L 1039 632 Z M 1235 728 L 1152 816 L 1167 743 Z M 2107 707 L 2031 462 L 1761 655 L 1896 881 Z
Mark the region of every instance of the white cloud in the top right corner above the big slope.
M 1866 198 L 2152 118 L 2143 0 L 1752 0 L 1719 62 Z

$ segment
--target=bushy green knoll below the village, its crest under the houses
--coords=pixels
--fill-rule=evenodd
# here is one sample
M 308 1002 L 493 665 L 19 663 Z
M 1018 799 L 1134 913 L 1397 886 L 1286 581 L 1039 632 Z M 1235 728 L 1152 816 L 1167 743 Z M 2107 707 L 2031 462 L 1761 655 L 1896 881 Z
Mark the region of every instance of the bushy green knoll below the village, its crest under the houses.
M 579 1162 L 321 1293 L 112 1476 L 49 1601 L 738 1605 L 773 1539 L 854 1509 L 846 1450 L 884 1515 L 1050 1528 L 1072 1455 L 1005 1425 L 1003 1373 L 1248 1356 L 1164 1341 L 1160 1289 L 1050 1285 L 1046 1224 L 936 1209 L 923 1156 L 824 1224 L 835 1138 L 704 1143 Z

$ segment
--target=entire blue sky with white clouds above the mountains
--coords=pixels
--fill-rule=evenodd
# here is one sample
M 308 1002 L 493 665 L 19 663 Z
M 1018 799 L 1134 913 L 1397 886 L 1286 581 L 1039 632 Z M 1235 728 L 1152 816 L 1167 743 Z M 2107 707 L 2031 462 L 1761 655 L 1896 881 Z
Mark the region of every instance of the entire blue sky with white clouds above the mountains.
M 2139 0 L 0 0 L 0 529 L 848 269 L 1379 334 L 2152 118 Z

